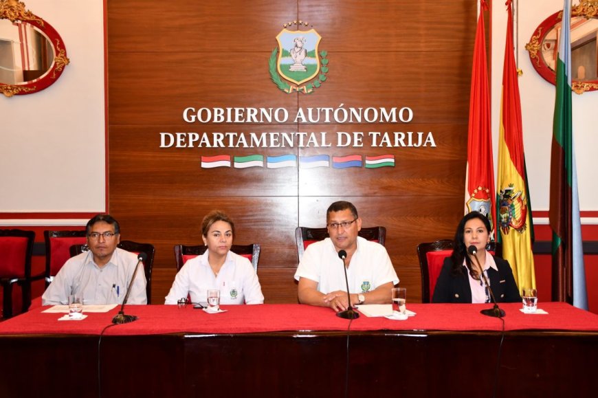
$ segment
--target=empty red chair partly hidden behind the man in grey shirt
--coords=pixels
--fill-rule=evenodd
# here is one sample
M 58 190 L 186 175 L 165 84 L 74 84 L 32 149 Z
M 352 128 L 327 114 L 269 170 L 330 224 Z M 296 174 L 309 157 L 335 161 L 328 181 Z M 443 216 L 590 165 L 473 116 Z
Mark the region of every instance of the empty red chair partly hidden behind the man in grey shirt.
M 71 257 L 70 247 L 85 244 L 87 238 L 85 230 L 46 230 L 43 232 L 43 237 L 45 240 L 45 286 L 47 287 Z

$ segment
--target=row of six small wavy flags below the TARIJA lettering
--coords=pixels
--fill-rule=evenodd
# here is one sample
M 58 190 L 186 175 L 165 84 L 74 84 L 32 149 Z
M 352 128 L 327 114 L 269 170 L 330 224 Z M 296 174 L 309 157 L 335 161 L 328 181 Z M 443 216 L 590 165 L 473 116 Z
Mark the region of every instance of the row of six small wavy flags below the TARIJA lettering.
M 234 156 L 217 155 L 217 156 L 202 156 L 201 168 L 217 168 L 230 167 L 234 168 L 248 168 L 248 167 L 264 167 L 267 168 L 283 168 L 283 167 L 297 167 L 297 158 L 299 158 L 300 168 L 316 168 L 316 167 L 333 167 L 333 168 L 379 168 L 379 167 L 395 167 L 395 155 L 379 155 L 366 156 L 365 164 L 362 155 L 348 155 L 348 156 L 329 156 L 329 155 L 315 155 L 315 156 L 297 156 L 297 155 L 282 155 L 282 156 L 264 156 L 264 155 L 249 155 L 249 156 Z M 332 160 L 332 162 L 331 162 Z

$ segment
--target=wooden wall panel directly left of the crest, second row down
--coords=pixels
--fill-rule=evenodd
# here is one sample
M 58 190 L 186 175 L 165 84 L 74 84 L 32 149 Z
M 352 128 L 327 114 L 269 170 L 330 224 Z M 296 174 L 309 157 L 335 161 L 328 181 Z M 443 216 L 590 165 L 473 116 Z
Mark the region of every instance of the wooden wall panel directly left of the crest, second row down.
M 183 120 L 188 107 L 282 107 L 294 114 L 297 98 L 276 93 L 268 58 L 268 53 L 111 53 L 109 123 L 178 123 L 182 131 L 197 131 L 202 126 Z

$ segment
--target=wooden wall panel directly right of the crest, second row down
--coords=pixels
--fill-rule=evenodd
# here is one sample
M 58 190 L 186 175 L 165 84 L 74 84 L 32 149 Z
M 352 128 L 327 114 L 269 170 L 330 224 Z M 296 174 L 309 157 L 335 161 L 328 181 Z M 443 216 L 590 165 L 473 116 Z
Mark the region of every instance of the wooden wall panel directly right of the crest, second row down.
M 326 47 L 322 44 L 322 47 Z M 470 49 L 453 52 L 331 52 L 330 72 L 318 95 L 300 96 L 307 107 L 410 107 L 412 123 L 460 123 L 467 128 Z M 431 55 L 432 54 L 432 55 Z M 467 98 L 469 90 L 467 90 Z M 404 124 L 397 124 L 399 130 Z

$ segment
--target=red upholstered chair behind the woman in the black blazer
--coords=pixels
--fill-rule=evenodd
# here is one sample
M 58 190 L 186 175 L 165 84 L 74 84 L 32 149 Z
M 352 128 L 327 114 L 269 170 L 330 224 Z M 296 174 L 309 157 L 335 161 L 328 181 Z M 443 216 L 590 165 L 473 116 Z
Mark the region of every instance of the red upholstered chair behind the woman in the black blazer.
M 502 256 L 500 243 L 491 242 L 487 249 L 495 256 Z M 452 252 L 453 241 L 450 239 L 417 245 L 419 269 L 421 271 L 421 302 L 432 302 L 436 280 L 440 275 L 444 259 L 450 256 Z

